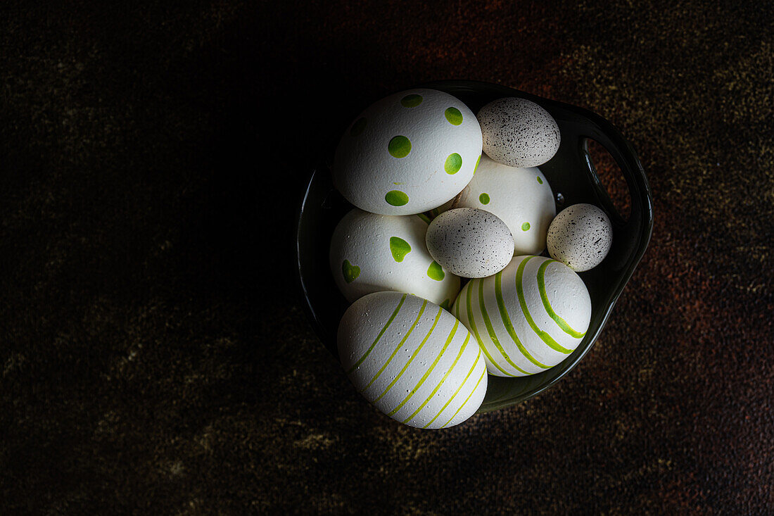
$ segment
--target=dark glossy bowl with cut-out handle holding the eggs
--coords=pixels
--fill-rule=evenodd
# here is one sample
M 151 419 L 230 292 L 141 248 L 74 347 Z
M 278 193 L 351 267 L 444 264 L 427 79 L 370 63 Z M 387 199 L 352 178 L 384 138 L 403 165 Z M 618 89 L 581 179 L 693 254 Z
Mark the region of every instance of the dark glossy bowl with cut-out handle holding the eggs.
M 446 91 L 460 98 L 473 112 L 502 97 L 520 97 L 542 105 L 557 120 L 561 145 L 557 154 L 540 170 L 548 178 L 557 202 L 557 213 L 580 202 L 598 205 L 610 217 L 613 243 L 604 261 L 580 273 L 591 294 L 591 323 L 583 342 L 567 359 L 530 377 L 489 377 L 479 412 L 507 407 L 546 390 L 567 374 L 591 349 L 615 301 L 645 253 L 652 231 L 652 203 L 645 172 L 632 146 L 610 122 L 583 108 L 529 95 L 497 84 L 474 81 L 440 81 L 423 88 Z M 365 106 L 363 106 L 365 108 Z M 628 220 L 615 212 L 587 150 L 594 139 L 620 167 L 628 186 L 631 212 Z M 330 176 L 332 155 L 311 170 L 303 194 L 297 224 L 297 260 L 304 304 L 320 340 L 338 357 L 336 331 L 348 303 L 337 290 L 328 266 L 330 236 L 352 205 L 334 189 Z

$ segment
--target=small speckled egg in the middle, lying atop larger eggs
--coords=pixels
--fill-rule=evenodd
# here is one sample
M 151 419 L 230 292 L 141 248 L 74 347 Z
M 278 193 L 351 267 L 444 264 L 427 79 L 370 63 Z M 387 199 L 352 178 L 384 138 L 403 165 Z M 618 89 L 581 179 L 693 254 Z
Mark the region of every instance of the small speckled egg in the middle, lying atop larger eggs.
M 502 270 L 513 256 L 513 236 L 497 215 L 456 208 L 430 222 L 425 237 L 433 259 L 457 276 L 485 277 Z

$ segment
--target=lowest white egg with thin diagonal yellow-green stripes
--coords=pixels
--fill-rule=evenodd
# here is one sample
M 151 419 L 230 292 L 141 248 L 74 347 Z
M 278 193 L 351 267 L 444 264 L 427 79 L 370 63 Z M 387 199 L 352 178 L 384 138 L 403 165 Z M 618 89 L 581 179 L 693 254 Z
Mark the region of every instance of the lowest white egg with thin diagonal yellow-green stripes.
M 435 303 L 375 292 L 338 328 L 341 365 L 365 399 L 404 425 L 447 428 L 484 401 L 486 365 L 467 328 Z

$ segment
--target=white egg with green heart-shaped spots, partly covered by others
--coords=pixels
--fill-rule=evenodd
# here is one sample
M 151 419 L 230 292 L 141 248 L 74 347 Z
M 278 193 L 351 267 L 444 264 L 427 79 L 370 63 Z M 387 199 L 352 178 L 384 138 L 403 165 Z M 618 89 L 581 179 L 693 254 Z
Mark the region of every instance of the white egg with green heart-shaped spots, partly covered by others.
M 444 270 L 425 246 L 427 223 L 417 215 L 376 215 L 354 208 L 330 239 L 330 270 L 354 301 L 378 291 L 409 292 L 449 308 L 460 278 Z

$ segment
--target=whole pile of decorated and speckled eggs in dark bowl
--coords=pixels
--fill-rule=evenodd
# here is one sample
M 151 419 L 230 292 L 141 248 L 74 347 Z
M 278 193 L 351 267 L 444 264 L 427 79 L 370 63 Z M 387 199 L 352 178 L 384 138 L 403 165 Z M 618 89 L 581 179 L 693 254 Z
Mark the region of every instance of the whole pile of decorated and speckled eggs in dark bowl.
M 351 303 L 337 345 L 385 415 L 457 425 L 481 406 L 487 373 L 540 373 L 580 344 L 591 298 L 576 271 L 604 260 L 612 231 L 593 205 L 557 215 L 538 167 L 559 146 L 557 122 L 532 101 L 475 115 L 423 88 L 383 98 L 344 132 L 334 185 L 355 208 L 330 242 Z

